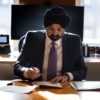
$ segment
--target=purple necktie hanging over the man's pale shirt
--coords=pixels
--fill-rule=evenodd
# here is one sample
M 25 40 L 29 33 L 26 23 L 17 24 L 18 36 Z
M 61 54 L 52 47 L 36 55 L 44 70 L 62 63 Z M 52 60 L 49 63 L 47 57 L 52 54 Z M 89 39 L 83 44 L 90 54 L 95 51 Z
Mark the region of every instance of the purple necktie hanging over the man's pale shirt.
M 51 43 L 51 49 L 49 53 L 49 59 L 48 59 L 48 70 L 47 70 L 47 80 L 50 80 L 56 76 L 57 71 L 57 51 L 55 48 L 55 43 Z

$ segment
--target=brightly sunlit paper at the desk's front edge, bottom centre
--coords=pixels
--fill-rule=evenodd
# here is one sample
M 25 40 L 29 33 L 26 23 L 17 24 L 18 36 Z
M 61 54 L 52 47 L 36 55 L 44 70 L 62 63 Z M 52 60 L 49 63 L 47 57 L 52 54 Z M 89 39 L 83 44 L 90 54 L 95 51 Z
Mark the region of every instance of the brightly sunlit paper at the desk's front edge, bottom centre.
M 76 94 L 54 94 L 49 91 L 39 91 L 38 94 L 46 100 L 80 100 Z

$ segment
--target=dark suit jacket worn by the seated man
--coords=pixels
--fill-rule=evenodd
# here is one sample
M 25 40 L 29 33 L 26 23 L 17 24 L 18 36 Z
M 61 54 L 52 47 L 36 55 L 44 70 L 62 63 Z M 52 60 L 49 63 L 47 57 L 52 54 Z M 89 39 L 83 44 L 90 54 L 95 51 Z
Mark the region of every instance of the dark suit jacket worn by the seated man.
M 23 67 L 38 67 L 42 71 L 45 38 L 44 32 L 28 32 L 25 36 L 21 54 L 14 65 L 14 74 L 24 79 Z M 87 67 L 82 56 L 82 46 L 79 36 L 64 34 L 62 37 L 63 59 L 62 75 L 71 72 L 74 80 L 82 80 L 86 77 Z

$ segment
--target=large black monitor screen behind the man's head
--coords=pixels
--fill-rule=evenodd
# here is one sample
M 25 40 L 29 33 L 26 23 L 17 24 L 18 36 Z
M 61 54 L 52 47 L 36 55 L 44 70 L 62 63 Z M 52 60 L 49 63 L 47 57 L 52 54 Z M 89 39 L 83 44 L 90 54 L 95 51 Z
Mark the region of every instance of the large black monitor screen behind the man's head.
M 51 6 L 12 5 L 11 8 L 11 39 L 20 39 L 27 31 L 43 30 L 44 12 Z M 67 32 L 78 34 L 83 40 L 84 7 L 62 6 L 71 18 L 66 27 Z

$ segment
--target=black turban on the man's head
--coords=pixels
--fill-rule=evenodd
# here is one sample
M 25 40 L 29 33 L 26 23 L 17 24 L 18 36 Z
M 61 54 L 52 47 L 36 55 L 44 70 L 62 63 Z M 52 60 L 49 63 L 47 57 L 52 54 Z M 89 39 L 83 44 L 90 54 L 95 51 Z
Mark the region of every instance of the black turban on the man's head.
M 44 26 L 50 26 L 52 24 L 60 24 L 65 28 L 70 22 L 70 17 L 62 7 L 54 6 L 47 9 L 44 15 Z

